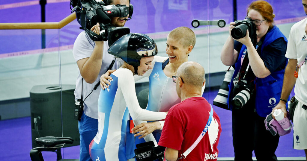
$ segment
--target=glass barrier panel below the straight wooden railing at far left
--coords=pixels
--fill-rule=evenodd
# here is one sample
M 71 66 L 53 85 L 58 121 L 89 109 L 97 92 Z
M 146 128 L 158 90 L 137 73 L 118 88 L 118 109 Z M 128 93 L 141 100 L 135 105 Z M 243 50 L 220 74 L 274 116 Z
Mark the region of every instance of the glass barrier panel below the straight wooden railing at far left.
M 0 30 L 0 147 L 4 160 L 30 160 L 30 149 L 39 146 L 35 138 L 62 135 L 59 48 L 42 49 L 41 33 L 40 29 Z M 46 42 L 58 42 L 57 35 L 57 29 L 46 29 Z

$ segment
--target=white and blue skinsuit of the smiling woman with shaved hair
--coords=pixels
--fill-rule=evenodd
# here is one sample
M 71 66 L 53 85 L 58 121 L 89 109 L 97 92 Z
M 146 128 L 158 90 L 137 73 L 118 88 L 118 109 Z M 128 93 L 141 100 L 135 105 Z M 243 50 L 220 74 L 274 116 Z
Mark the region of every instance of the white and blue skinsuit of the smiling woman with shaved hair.
M 166 76 L 163 72 L 164 67 L 169 63 L 169 59 L 167 59 L 167 57 L 154 56 L 152 63 L 152 70 L 148 70 L 143 76 L 135 75 L 134 79 L 137 81 L 144 78 L 144 76 L 149 77 L 149 95 L 146 110 L 167 112 L 173 105 L 181 102 L 176 92 L 176 83 L 173 82 L 173 78 Z M 203 86 L 202 94 L 204 87 L 205 86 Z M 133 122 L 134 125 L 139 125 L 146 121 L 133 120 Z M 164 125 L 164 121 L 159 122 L 161 124 L 160 130 L 155 130 L 142 139 L 138 139 L 139 136 L 137 136 L 135 138 L 135 145 L 144 143 L 146 140 L 146 142 L 153 141 L 157 146 Z M 134 148 L 136 148 L 136 146 Z

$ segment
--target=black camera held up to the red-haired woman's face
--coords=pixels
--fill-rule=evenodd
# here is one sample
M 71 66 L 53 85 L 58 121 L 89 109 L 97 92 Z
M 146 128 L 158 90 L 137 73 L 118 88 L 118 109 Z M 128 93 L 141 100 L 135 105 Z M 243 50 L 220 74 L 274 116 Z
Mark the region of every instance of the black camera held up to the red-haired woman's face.
M 244 20 L 235 21 L 235 28 L 231 30 L 231 36 L 234 39 L 240 39 L 246 36 L 246 30 L 248 29 L 249 37 L 253 44 L 257 44 L 256 25 L 250 18 L 245 17 Z

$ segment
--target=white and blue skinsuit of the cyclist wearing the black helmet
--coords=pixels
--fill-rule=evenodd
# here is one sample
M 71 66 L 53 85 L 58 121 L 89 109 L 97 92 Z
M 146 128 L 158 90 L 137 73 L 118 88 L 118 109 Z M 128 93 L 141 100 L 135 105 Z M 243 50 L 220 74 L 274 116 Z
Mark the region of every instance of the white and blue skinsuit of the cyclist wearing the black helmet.
M 90 144 L 93 160 L 129 159 L 126 158 L 125 148 L 129 113 L 133 120 L 155 121 L 166 117 L 166 113 L 152 112 L 139 106 L 132 71 L 119 68 L 111 77 L 111 85 L 101 90 L 99 95 L 98 132 Z

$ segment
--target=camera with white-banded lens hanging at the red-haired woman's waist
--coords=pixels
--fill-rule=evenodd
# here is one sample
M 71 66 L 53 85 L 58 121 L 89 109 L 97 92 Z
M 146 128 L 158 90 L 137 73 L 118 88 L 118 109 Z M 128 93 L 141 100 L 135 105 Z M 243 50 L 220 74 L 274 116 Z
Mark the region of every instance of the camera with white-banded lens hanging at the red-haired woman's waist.
M 235 95 L 235 97 L 232 98 L 231 103 L 235 109 L 240 109 L 254 94 L 254 84 L 247 84 L 242 80 L 239 80 L 239 82 L 235 84 L 232 93 Z

